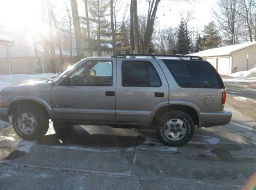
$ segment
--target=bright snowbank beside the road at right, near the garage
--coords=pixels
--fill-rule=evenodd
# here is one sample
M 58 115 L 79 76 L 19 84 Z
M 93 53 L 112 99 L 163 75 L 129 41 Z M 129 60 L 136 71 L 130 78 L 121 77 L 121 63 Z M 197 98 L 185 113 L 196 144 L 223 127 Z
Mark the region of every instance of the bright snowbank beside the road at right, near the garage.
M 256 82 L 256 65 L 253 66 L 252 69 L 248 71 L 240 71 L 229 74 L 233 78 L 224 78 L 224 81 L 228 82 L 248 82 L 255 83 Z

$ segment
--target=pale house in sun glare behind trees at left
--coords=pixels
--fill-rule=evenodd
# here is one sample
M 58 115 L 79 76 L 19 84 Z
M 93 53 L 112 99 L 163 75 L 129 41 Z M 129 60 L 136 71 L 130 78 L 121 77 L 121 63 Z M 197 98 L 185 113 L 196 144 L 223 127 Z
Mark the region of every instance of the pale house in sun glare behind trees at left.
M 41 39 L 34 36 L 26 28 L 17 28 L 17 30 L 1 29 L 2 36 L 8 36 L 12 39 L 12 45 L 9 45 L 10 64 L 8 61 L 6 46 L 0 45 L 0 74 L 36 74 L 40 72 L 51 72 L 49 61 L 45 60 L 44 48 Z M 65 38 L 62 38 L 65 39 Z M 73 58 L 70 58 L 69 45 L 62 45 L 63 66 L 71 65 L 76 62 L 75 44 L 73 45 Z M 56 63 L 60 68 L 60 53 L 55 47 Z M 10 66 L 11 71 L 10 72 Z M 40 66 L 42 69 L 40 69 Z

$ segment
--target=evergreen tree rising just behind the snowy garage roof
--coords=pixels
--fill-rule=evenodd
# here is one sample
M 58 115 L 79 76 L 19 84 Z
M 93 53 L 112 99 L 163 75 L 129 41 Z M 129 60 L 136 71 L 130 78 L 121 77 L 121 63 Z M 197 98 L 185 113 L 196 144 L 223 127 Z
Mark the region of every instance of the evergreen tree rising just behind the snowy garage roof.
M 204 39 L 202 40 L 202 49 L 216 48 L 221 44 L 221 36 L 214 21 L 204 26 Z

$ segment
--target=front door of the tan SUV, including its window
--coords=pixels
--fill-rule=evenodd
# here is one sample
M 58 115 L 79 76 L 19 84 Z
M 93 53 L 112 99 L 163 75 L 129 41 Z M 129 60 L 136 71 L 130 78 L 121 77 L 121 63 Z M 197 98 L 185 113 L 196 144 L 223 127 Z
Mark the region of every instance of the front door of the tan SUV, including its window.
M 88 60 L 71 74 L 70 85 L 52 88 L 54 118 L 59 120 L 115 122 L 116 63 Z

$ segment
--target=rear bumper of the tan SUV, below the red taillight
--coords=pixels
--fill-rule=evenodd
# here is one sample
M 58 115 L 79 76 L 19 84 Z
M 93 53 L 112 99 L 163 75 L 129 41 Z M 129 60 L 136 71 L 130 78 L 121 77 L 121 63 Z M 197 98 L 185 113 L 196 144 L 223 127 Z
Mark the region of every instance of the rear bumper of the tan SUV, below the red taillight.
M 226 125 L 231 121 L 231 112 L 202 112 L 199 117 L 199 127 Z

